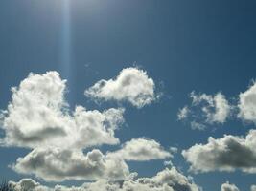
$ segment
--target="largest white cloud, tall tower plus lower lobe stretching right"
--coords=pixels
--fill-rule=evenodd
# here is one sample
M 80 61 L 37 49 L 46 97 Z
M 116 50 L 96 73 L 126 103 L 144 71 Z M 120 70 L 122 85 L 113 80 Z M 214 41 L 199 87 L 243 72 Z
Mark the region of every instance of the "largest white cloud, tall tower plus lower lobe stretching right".
M 65 80 L 57 72 L 30 74 L 13 87 L 12 101 L 2 117 L 5 144 L 29 148 L 117 144 L 114 131 L 124 121 L 124 109 L 100 112 L 77 106 L 72 112 L 65 90 Z

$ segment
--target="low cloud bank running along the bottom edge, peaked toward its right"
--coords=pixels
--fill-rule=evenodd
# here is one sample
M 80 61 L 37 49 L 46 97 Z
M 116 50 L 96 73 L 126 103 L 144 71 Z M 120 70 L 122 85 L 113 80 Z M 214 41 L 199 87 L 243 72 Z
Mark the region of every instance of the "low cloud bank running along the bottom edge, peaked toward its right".
M 29 180 L 27 180 L 29 181 Z M 166 168 L 151 178 L 130 177 L 123 181 L 97 180 L 95 182 L 87 182 L 80 187 L 66 187 L 57 185 L 55 188 L 41 186 L 34 180 L 30 180 L 27 184 L 31 185 L 31 191 L 199 191 L 200 188 L 193 180 L 185 177 L 176 170 L 175 167 Z M 21 183 L 12 181 L 12 187 L 15 191 L 21 191 Z

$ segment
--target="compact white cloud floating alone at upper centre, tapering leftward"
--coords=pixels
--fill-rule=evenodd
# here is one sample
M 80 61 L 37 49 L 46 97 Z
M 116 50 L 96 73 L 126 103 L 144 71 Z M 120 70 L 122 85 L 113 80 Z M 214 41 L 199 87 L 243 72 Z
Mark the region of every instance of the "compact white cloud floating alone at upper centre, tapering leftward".
M 153 80 L 145 71 L 126 68 L 114 79 L 98 81 L 84 94 L 95 99 L 128 101 L 141 108 L 155 100 L 154 88 Z

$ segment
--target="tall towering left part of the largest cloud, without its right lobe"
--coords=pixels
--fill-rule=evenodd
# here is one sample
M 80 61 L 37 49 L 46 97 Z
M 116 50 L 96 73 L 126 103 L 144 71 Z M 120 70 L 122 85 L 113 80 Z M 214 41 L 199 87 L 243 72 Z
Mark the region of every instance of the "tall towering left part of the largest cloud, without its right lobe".
M 6 143 L 32 146 L 49 138 L 67 134 L 61 108 L 65 80 L 56 72 L 30 74 L 19 87 L 12 87 L 12 102 L 8 105 L 3 127 Z

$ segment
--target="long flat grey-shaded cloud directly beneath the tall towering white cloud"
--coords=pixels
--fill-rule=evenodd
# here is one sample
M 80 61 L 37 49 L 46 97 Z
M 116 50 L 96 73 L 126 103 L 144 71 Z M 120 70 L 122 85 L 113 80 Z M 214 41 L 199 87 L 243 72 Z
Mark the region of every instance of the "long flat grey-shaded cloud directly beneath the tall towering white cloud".
M 12 168 L 46 181 L 123 180 L 129 175 L 123 159 L 105 157 L 97 149 L 85 156 L 81 150 L 36 148 L 24 158 L 18 158 Z

